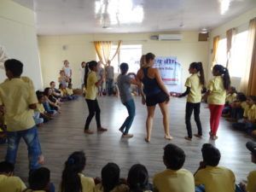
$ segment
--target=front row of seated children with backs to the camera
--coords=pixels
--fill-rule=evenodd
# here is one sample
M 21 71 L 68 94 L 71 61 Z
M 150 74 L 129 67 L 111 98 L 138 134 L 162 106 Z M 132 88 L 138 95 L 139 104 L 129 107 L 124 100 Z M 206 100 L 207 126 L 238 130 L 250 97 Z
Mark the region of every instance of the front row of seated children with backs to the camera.
M 256 163 L 256 143 L 248 142 L 252 162 Z M 218 166 L 221 154 L 210 143 L 201 148 L 202 161 L 194 176 L 183 169 L 186 155 L 182 148 L 167 144 L 164 148 L 163 162 L 166 170 L 156 173 L 153 184 L 148 182 L 147 168 L 141 164 L 131 166 L 127 178 L 120 178 L 120 168 L 115 163 L 108 163 L 102 168 L 101 178 L 85 177 L 82 173 L 86 165 L 85 154 L 77 151 L 66 162 L 59 184 L 59 192 L 255 192 L 256 171 L 250 172 L 247 183 L 236 185 L 234 172 L 224 166 Z M 0 163 L 1 191 L 46 191 L 53 192 L 49 170 L 41 167 L 32 171 L 28 178 L 29 186 L 20 177 L 13 176 L 14 166 L 7 162 Z

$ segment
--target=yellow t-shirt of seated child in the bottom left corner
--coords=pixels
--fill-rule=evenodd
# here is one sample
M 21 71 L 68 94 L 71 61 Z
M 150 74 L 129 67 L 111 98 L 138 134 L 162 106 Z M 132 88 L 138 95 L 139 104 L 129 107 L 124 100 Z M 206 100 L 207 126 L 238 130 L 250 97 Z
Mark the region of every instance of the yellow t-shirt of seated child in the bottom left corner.
M 20 177 L 0 175 L 0 191 L 2 192 L 21 192 L 26 189 Z

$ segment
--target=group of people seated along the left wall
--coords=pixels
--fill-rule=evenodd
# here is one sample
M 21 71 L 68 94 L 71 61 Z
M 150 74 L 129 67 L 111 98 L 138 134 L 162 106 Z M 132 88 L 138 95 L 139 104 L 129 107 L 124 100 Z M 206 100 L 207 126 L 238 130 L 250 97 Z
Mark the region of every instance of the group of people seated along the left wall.
M 38 126 L 48 122 L 49 119 L 53 119 L 56 113 L 60 113 L 62 102 L 78 98 L 73 94 L 72 84 L 68 84 L 67 88 L 60 84 L 59 90 L 55 89 L 54 81 L 50 82 L 49 85 L 44 89 L 44 92 L 39 90 L 36 92 L 38 103 L 33 118 Z

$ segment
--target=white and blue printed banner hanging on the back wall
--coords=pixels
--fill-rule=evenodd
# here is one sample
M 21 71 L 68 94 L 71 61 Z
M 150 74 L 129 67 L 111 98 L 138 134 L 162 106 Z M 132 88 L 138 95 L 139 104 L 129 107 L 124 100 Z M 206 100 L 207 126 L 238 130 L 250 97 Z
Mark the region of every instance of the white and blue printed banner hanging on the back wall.
M 160 71 L 164 84 L 181 83 L 181 65 L 177 62 L 175 56 L 158 56 L 155 57 L 154 67 Z

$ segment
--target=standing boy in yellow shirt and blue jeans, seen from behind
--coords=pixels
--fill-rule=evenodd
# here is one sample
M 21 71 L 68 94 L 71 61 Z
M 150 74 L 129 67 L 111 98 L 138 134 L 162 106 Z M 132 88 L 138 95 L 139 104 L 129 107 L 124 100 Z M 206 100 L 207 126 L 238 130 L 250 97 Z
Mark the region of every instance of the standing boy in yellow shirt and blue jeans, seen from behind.
M 5 160 L 15 164 L 16 154 L 23 138 L 27 145 L 29 168 L 37 169 L 44 162 L 38 139 L 38 128 L 32 118 L 38 99 L 32 80 L 20 78 L 23 64 L 15 59 L 4 62 L 8 80 L 0 84 L 0 111 L 4 113 L 9 140 Z

